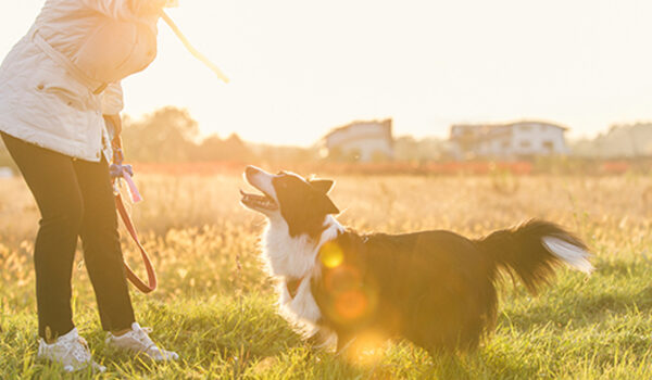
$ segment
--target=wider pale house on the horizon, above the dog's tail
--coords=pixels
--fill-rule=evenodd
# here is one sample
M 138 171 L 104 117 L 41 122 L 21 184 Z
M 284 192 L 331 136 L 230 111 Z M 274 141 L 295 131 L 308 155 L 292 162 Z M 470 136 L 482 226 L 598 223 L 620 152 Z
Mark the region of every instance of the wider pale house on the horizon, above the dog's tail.
M 464 159 L 518 159 L 569 153 L 568 128 L 539 121 L 507 124 L 459 124 L 451 127 L 452 155 Z

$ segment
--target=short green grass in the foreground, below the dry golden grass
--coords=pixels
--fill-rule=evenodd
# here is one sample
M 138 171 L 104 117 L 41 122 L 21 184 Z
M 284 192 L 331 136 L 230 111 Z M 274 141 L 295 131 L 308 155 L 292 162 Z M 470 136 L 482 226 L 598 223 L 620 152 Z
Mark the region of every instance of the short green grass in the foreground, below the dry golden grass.
M 372 364 L 348 363 L 303 343 L 275 313 L 273 296 L 256 293 L 165 303 L 136 295 L 138 319 L 155 326 L 156 341 L 181 355 L 173 364 L 152 366 L 108 349 L 91 302 L 79 306 L 76 300 L 76 320 L 109 367 L 99 376 L 106 379 L 645 379 L 652 378 L 651 276 L 644 264 L 600 263 L 589 280 L 562 273 L 543 296 L 505 289 L 496 333 L 460 357 L 431 358 L 393 342 L 377 349 Z M 2 315 L 2 378 L 61 377 L 58 366 L 35 363 L 32 311 L 12 313 L 3 304 Z

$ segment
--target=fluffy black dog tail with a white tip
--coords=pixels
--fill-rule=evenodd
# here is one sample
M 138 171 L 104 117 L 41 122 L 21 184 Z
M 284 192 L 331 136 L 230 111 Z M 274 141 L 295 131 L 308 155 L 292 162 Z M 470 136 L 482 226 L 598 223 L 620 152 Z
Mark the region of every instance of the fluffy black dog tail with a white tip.
M 549 221 L 532 219 L 512 229 L 496 231 L 476 243 L 494 259 L 496 266 L 516 274 L 532 293 L 548 283 L 559 263 L 586 274 L 593 270 L 587 245 Z

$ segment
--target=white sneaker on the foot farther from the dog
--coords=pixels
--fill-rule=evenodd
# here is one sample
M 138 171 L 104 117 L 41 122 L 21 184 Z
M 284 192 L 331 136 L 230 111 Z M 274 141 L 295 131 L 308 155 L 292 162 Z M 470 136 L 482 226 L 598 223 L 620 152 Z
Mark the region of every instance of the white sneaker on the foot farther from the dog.
M 72 329 L 65 335 L 59 337 L 57 342 L 52 344 L 46 343 L 41 338 L 38 344 L 37 357 L 62 364 L 66 372 L 74 372 L 88 366 L 99 372 L 106 370 L 106 367 L 92 360 L 88 343 L 79 337 L 77 328 Z

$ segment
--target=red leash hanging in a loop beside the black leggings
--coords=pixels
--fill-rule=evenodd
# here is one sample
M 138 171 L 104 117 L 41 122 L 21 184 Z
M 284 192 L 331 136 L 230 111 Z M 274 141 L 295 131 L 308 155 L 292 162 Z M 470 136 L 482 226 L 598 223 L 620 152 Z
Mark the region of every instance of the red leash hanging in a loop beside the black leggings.
M 112 124 L 114 124 L 115 126 L 115 123 Z M 122 151 L 122 140 L 120 138 L 120 129 L 115 129 L 115 137 L 111 142 L 113 147 L 113 164 L 111 164 L 110 168 L 111 177 L 113 177 L 113 187 L 115 189 L 115 207 L 117 208 L 117 212 L 125 225 L 125 228 L 127 229 L 127 231 L 131 236 L 131 239 L 134 240 L 134 242 L 136 242 L 136 245 L 138 245 L 138 249 L 140 250 L 140 256 L 142 257 L 142 263 L 145 264 L 145 268 L 147 269 L 148 283 L 145 283 L 145 281 L 142 281 L 138 276 L 136 276 L 134 270 L 129 267 L 129 265 L 126 262 L 124 262 L 125 271 L 129 282 L 131 282 L 138 290 L 147 294 L 151 293 L 156 289 L 156 273 L 154 270 L 152 262 L 149 258 L 149 255 L 147 254 L 147 251 L 145 250 L 145 246 L 142 246 L 142 243 L 140 243 L 140 239 L 138 239 L 138 233 L 136 232 L 136 227 L 134 227 L 134 221 L 131 221 L 131 217 L 129 216 L 129 213 L 127 213 L 127 208 L 125 207 L 122 194 L 120 192 L 120 189 L 117 188 L 117 182 L 121 178 L 124 178 L 127 185 L 129 186 L 131 197 L 134 198 L 135 202 L 141 200 L 140 194 L 138 193 L 138 189 L 136 189 L 136 185 L 131 180 L 131 176 L 134 175 L 131 165 L 123 165 L 124 156 Z

